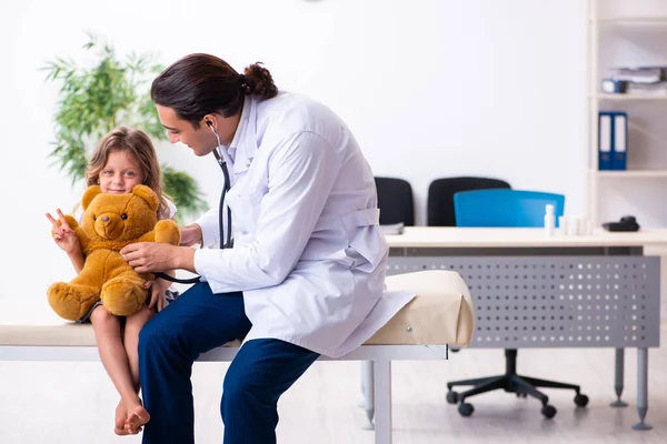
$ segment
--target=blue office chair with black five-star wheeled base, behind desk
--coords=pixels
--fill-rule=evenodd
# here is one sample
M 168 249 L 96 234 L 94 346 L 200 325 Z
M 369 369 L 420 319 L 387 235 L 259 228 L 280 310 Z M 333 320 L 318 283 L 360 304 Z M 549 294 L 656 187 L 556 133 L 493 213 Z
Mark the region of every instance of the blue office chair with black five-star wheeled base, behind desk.
M 517 190 L 480 190 L 466 191 L 454 195 L 457 226 L 544 226 L 545 205 L 555 208 L 556 219 L 563 215 L 565 196 L 563 194 L 541 193 Z M 517 374 L 517 350 L 505 350 L 505 374 L 479 377 L 474 380 L 447 383 L 447 402 L 459 403 L 458 411 L 462 416 L 474 412 L 472 404 L 466 403 L 470 396 L 502 389 L 516 393 L 517 396 L 528 395 L 542 403 L 541 414 L 547 418 L 556 415 L 556 408 L 548 404 L 549 397 L 537 387 L 568 389 L 576 392 L 575 404 L 586 406 L 588 396 L 580 393 L 579 385 L 565 384 L 555 381 L 539 380 Z M 474 385 L 466 392 L 457 393 L 451 389 L 456 385 Z

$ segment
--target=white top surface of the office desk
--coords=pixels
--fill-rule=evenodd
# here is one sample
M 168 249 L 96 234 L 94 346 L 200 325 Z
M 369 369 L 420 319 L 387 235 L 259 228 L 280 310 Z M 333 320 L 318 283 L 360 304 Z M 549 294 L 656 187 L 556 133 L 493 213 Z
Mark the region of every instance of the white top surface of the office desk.
M 634 233 L 595 230 L 593 235 L 546 236 L 544 229 L 489 229 L 407 226 L 402 234 L 388 234 L 391 248 L 577 248 L 667 246 L 667 229 Z

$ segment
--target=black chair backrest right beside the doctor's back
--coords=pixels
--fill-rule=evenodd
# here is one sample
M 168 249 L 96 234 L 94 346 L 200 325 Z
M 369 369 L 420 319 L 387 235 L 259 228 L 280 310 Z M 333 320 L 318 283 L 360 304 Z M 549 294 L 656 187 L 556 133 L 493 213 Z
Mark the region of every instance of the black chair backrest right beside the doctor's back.
M 410 183 L 395 178 L 375 178 L 375 181 L 378 190 L 380 224 L 402 222 L 406 226 L 415 225 L 415 202 Z

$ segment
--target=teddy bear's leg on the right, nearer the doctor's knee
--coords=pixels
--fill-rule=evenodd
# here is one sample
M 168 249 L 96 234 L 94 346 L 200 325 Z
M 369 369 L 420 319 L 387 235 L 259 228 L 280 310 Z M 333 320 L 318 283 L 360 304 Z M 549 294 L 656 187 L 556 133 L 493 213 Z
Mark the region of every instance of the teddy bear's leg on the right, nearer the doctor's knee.
M 148 290 L 143 287 L 145 281 L 133 271 L 110 279 L 102 285 L 100 297 L 102 305 L 109 313 L 117 316 L 129 316 L 137 313 L 146 302 Z

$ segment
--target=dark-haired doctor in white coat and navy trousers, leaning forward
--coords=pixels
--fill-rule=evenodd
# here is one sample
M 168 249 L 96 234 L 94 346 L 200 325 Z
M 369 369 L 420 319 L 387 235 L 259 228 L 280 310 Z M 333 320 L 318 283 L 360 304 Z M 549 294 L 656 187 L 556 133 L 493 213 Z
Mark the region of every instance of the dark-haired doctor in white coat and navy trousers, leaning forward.
M 151 97 L 170 141 L 213 153 L 226 180 L 223 203 L 182 228 L 182 246 L 121 250 L 138 272 L 201 275 L 139 335 L 143 443 L 193 443 L 192 363 L 235 339 L 245 342 L 223 382 L 225 443 L 275 443 L 280 395 L 320 354 L 358 347 L 412 297 L 384 293 L 372 172 L 334 112 L 278 91 L 260 64 L 239 74 L 191 54 Z

